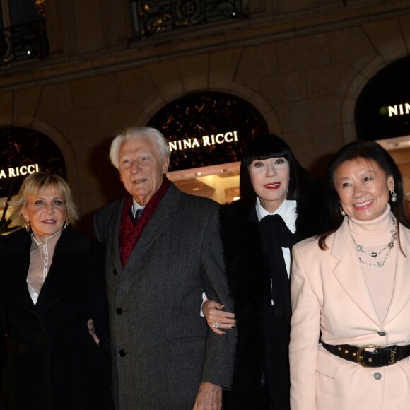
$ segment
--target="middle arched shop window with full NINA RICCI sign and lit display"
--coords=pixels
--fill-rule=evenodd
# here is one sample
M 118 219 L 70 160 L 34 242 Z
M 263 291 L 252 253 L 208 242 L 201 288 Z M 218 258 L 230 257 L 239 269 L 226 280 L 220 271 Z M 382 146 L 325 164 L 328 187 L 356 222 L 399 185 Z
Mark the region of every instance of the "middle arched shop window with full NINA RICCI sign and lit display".
M 183 192 L 220 203 L 239 195 L 239 161 L 266 122 L 248 102 L 227 93 L 195 93 L 163 107 L 148 122 L 171 150 L 170 179 Z

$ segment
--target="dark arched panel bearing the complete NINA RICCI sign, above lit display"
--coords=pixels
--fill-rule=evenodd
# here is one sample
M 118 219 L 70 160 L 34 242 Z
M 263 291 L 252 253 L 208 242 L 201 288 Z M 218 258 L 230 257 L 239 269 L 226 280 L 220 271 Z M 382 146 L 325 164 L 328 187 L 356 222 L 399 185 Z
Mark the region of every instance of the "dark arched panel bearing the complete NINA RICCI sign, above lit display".
M 249 102 L 213 92 L 170 102 L 148 127 L 159 129 L 170 144 L 171 171 L 238 161 L 247 141 L 267 132 L 264 118 Z

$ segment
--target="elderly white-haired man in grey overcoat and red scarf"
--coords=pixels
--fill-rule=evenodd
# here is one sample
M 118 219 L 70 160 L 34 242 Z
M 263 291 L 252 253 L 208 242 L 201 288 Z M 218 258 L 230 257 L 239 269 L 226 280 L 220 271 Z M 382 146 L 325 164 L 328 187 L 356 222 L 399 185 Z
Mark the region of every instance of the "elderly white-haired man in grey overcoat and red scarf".
M 156 129 L 119 134 L 110 159 L 126 193 L 96 211 L 94 227 L 106 244 L 116 408 L 221 409 L 235 329 L 218 336 L 199 315 L 204 291 L 233 309 L 219 206 L 168 180 L 170 149 Z

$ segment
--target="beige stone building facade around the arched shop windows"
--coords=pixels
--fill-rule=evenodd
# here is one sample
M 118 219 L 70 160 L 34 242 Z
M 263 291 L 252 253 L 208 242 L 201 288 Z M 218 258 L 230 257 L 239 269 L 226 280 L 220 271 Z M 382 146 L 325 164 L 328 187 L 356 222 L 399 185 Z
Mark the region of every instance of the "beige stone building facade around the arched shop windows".
M 249 18 L 130 40 L 127 1 L 47 0 L 50 55 L 0 71 L 0 127 L 29 127 L 61 149 L 88 230 L 122 192 L 112 136 L 202 90 L 250 102 L 300 163 L 320 172 L 356 139 L 368 81 L 409 55 L 410 0 L 250 0 Z

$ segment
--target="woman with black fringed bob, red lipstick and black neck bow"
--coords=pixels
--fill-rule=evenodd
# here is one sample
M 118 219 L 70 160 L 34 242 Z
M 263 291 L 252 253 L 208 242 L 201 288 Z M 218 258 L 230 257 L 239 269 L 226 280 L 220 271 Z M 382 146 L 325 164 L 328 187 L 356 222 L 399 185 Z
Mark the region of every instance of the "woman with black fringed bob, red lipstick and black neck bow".
M 240 200 L 222 206 L 221 237 L 235 314 L 209 300 L 218 334 L 238 324 L 227 409 L 288 409 L 291 247 L 321 232 L 321 186 L 274 134 L 255 137 L 240 165 Z

